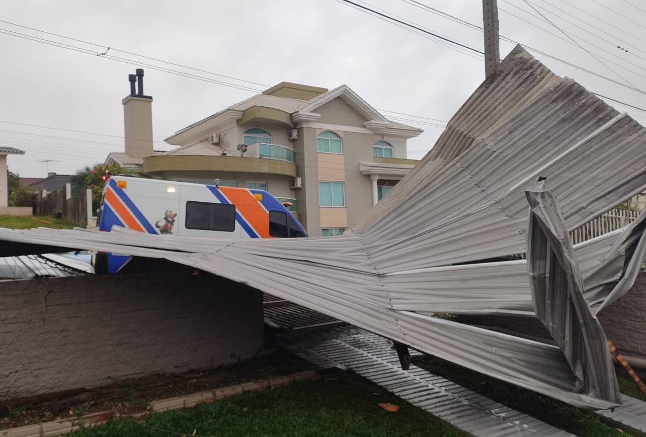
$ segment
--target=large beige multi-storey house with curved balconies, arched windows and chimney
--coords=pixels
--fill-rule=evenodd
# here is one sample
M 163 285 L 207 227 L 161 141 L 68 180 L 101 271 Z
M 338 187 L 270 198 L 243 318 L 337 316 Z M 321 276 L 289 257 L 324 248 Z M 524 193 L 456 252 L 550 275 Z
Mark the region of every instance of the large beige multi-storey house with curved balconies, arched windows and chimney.
M 348 86 L 282 82 L 166 138 L 152 149 L 152 98 L 123 100 L 125 153 L 116 162 L 152 178 L 266 189 L 309 235 L 352 226 L 406 175 L 406 140 L 421 129 L 390 122 Z M 142 138 L 148 138 L 147 143 Z

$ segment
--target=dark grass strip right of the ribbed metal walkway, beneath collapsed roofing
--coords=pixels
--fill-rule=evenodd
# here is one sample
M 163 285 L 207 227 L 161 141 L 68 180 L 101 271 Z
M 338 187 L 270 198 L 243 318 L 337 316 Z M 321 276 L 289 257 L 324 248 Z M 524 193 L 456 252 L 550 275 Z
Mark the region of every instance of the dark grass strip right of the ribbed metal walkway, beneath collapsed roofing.
M 423 357 L 416 359 L 415 364 L 429 372 L 444 376 L 444 378 L 450 379 L 463 387 L 474 390 L 483 396 L 577 436 L 628 437 L 634 435 L 629 432 L 618 431 L 615 427 L 603 423 L 601 418 L 592 411 L 578 409 L 536 392 L 521 389 L 516 385 L 488 378 L 483 374 L 459 367 L 439 358 Z M 624 378 L 621 374 L 618 379 L 622 392 L 624 388 L 630 388 L 631 384 L 632 386 L 635 385 L 632 379 Z

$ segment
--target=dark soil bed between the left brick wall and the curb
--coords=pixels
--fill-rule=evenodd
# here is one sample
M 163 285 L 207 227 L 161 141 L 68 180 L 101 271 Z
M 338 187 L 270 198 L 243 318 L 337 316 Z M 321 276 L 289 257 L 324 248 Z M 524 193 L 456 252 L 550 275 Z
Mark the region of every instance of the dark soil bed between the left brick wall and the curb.
M 0 429 L 83 416 L 105 410 L 117 410 L 120 414 L 134 414 L 146 410 L 149 401 L 152 400 L 313 368 L 315 368 L 313 365 L 293 354 L 276 350 L 271 354 L 233 365 L 190 370 L 179 374 L 154 374 L 144 378 L 125 379 L 72 396 L 33 401 L 26 405 L 12 405 L 10 408 L 0 405 Z

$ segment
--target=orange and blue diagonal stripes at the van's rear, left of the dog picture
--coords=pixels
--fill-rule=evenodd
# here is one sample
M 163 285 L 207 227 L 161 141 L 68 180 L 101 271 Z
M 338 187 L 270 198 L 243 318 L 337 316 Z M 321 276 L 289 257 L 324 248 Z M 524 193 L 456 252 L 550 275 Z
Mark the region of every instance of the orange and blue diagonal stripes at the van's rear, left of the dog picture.
M 99 230 L 109 231 L 114 224 L 135 231 L 157 233 L 125 191 L 117 187 L 114 179 L 110 179 L 103 197 Z

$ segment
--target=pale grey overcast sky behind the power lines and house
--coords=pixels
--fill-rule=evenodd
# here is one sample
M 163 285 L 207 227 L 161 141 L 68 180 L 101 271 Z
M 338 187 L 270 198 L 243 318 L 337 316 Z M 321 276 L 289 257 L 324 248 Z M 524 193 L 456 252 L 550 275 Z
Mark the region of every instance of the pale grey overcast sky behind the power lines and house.
M 23 177 L 72 174 L 123 151 L 121 99 L 137 67 L 145 69 L 144 91 L 154 99 L 157 150 L 173 148 L 163 139 L 174 131 L 291 81 L 328 89 L 344 83 L 390 120 L 424 129 L 408 141 L 408 157 L 422 158 L 484 79 L 477 53 L 483 32 L 464 23 L 482 27 L 482 3 L 354 1 L 475 51 L 342 0 L 3 0 L 0 145 L 26 152 L 10 155 L 9 169 Z M 636 91 L 646 89 L 643 2 L 498 0 L 498 8 L 501 58 L 517 41 L 556 74 L 646 109 L 645 95 Z M 646 112 L 609 103 L 646 123 Z

